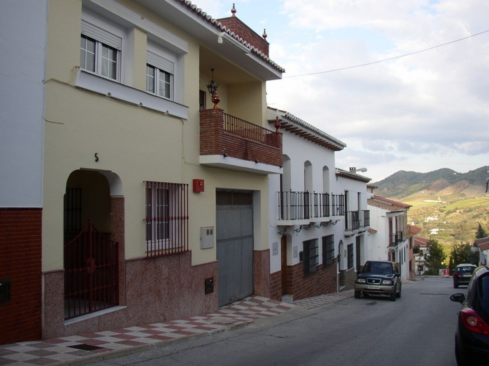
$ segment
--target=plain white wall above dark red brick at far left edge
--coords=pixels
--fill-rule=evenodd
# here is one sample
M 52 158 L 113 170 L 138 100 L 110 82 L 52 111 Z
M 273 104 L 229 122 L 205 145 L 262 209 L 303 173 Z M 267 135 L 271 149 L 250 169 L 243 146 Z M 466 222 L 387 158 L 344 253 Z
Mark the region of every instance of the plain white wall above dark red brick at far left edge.
M 0 2 L 0 207 L 43 206 L 47 0 Z

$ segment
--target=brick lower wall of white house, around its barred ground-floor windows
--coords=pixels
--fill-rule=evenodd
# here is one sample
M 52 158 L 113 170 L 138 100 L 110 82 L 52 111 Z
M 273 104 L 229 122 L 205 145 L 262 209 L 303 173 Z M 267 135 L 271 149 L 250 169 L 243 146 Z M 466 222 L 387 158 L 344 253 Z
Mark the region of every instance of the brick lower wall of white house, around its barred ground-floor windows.
M 270 296 L 280 300 L 282 297 L 282 271 L 270 274 Z M 304 264 L 287 266 L 287 293 L 294 300 L 336 292 L 336 262 L 323 267 L 319 264 L 317 272 L 306 275 Z

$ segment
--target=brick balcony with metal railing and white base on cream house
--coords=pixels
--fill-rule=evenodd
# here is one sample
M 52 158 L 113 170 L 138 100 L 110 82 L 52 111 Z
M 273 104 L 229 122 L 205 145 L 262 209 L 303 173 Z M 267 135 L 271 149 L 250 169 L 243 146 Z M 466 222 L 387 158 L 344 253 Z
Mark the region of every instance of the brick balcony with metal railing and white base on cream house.
M 282 173 L 282 134 L 224 113 L 200 111 L 200 164 L 254 174 Z

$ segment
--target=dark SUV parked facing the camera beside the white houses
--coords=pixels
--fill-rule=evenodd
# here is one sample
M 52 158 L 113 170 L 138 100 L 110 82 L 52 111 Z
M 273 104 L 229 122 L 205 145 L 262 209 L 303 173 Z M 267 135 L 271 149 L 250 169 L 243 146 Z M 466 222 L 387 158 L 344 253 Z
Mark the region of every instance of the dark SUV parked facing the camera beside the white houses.
M 401 279 L 396 262 L 367 261 L 356 275 L 355 298 L 388 295 L 391 301 L 400 297 Z

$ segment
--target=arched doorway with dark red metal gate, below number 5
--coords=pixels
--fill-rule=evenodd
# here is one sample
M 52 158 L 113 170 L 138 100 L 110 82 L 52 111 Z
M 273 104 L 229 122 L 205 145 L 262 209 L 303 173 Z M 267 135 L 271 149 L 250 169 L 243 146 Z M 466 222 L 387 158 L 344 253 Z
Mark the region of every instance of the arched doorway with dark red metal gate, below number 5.
M 120 304 L 119 283 L 124 280 L 123 268 L 119 267 L 119 258 L 124 258 L 121 193 L 120 180 L 111 172 L 80 169 L 67 179 L 65 319 Z

